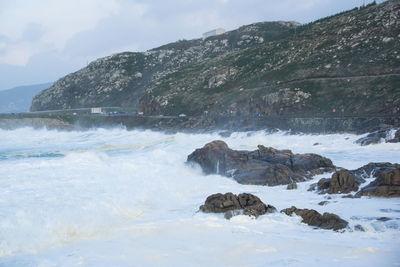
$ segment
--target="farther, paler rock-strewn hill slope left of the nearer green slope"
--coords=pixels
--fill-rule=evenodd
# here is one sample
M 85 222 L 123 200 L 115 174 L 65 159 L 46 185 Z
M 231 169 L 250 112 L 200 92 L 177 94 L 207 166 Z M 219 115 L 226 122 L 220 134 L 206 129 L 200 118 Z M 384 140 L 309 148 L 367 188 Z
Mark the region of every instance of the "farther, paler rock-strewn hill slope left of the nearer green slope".
M 282 38 L 297 26 L 294 22 L 256 23 L 206 40 L 183 40 L 144 53 L 125 52 L 100 58 L 37 95 L 31 111 L 94 106 L 137 108 L 145 89 L 151 90 L 150 85 L 158 85 L 162 77 L 224 53 Z M 210 86 L 224 79 L 210 77 Z

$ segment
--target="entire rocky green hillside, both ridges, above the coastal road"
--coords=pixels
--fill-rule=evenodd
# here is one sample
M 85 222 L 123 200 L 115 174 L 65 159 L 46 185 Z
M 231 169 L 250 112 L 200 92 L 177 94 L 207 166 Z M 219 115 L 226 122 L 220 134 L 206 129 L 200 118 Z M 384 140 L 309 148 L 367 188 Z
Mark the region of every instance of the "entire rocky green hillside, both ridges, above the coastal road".
M 399 38 L 400 1 L 393 0 L 307 25 L 256 23 L 99 59 L 37 95 L 31 110 L 393 115 L 400 107 Z

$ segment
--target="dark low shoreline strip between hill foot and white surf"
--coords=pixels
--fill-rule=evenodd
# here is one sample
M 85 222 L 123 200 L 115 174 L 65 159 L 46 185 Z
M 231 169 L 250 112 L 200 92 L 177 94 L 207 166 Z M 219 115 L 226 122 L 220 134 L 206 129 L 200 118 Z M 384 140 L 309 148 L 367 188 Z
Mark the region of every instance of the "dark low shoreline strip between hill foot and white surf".
M 166 132 L 201 133 L 210 131 L 290 131 L 331 134 L 386 130 L 400 127 L 398 116 L 132 116 L 66 114 L 0 114 L 0 129 L 33 127 L 56 130 L 88 130 L 123 126 L 127 130 L 149 129 Z

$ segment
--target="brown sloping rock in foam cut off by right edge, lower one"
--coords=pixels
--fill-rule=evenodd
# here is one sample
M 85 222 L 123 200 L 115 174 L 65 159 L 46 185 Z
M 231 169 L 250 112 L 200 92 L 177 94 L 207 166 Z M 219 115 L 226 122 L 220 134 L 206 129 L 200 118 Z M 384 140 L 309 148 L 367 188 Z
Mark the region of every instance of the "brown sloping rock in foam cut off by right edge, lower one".
M 356 196 L 400 197 L 399 166 L 382 168 L 376 171 L 374 176 L 377 178 L 362 188 Z

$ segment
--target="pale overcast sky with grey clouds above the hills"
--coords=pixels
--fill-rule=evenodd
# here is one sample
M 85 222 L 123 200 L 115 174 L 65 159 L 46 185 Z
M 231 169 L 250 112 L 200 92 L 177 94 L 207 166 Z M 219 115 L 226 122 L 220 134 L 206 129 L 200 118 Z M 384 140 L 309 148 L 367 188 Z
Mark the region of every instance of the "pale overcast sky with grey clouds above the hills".
M 363 2 L 0 0 L 0 90 L 56 81 L 96 58 L 200 38 L 218 27 L 233 30 L 276 20 L 307 23 Z

